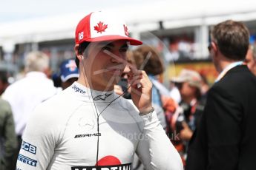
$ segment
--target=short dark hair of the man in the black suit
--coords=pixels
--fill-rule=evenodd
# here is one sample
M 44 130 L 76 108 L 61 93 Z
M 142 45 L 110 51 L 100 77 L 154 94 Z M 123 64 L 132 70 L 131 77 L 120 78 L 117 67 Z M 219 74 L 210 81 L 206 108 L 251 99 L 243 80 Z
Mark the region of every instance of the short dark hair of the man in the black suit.
M 211 38 L 226 58 L 238 61 L 246 58 L 249 30 L 242 22 L 227 20 L 217 24 Z

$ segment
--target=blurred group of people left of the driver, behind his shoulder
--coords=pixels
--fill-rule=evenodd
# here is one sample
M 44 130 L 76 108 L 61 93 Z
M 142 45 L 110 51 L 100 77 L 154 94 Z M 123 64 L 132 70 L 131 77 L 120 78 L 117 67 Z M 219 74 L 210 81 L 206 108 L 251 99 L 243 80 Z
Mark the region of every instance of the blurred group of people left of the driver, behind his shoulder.
M 24 73 L 9 84 L 7 72 L 0 72 L 0 169 L 15 169 L 22 134 L 33 109 L 66 89 L 78 79 L 74 59 L 62 61 L 58 72 L 50 73 L 49 57 L 44 52 L 27 54 Z

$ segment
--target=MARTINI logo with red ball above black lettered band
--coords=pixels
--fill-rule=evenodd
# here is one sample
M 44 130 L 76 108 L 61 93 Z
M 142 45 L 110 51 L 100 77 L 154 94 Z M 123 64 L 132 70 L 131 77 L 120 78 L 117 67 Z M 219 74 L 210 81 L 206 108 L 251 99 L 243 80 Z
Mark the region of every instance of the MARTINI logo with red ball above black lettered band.
M 98 166 L 74 166 L 71 170 L 131 170 L 131 163 L 122 164 L 114 156 L 105 156 L 98 161 Z

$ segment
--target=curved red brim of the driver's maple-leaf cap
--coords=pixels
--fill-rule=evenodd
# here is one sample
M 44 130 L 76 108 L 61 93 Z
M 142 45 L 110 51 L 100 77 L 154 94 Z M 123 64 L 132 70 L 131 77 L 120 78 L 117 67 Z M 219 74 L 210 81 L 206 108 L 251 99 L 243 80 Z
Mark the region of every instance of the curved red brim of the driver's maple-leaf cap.
M 131 45 L 142 45 L 142 41 L 130 38 L 130 37 L 125 37 L 125 36 L 120 36 L 120 35 L 104 35 L 96 38 L 90 38 L 90 39 L 85 39 L 84 41 L 88 42 L 99 42 L 99 41 L 116 41 L 116 40 L 126 40 L 130 42 Z M 80 42 L 81 43 L 81 42 Z

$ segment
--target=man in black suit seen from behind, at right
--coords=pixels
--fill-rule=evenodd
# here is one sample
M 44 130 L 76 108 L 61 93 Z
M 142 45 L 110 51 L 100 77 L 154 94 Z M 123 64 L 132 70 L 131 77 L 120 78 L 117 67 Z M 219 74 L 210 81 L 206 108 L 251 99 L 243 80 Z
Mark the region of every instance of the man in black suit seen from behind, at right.
M 220 75 L 191 139 L 186 170 L 256 169 L 256 78 L 243 65 L 248 47 L 244 24 L 214 26 L 209 52 Z

